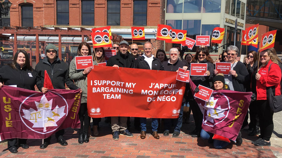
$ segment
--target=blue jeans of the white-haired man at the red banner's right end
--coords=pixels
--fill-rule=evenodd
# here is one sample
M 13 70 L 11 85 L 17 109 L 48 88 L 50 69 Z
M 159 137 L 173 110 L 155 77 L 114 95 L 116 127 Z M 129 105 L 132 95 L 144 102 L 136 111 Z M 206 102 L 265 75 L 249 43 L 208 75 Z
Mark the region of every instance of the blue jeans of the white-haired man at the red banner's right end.
M 170 130 L 171 121 L 173 121 L 174 131 L 180 132 L 183 120 L 183 108 L 184 102 L 181 104 L 179 117 L 175 119 L 164 119 L 165 130 Z

